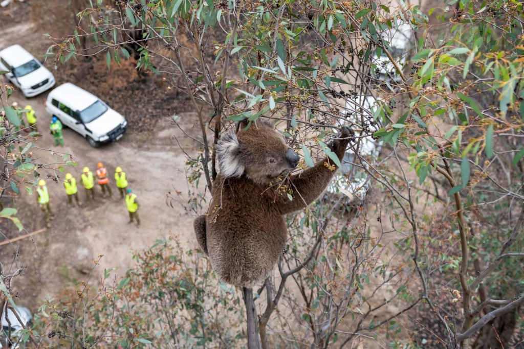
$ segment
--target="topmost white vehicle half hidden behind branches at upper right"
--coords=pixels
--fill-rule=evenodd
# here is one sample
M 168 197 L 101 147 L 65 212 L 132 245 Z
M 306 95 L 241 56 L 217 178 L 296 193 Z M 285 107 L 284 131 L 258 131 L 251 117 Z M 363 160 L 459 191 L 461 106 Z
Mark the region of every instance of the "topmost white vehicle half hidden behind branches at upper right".
M 409 23 L 400 23 L 398 27 L 386 29 L 380 34 L 382 39 L 389 43 L 389 53 L 391 53 L 391 57 L 400 68 L 403 68 L 406 64 L 413 37 L 412 32 L 413 29 L 411 29 Z M 382 52 L 380 57 L 377 57 L 377 52 L 375 51 L 372 62 L 376 64 L 381 80 L 388 80 L 389 78 L 396 82 L 401 80 L 400 75 L 386 53 Z

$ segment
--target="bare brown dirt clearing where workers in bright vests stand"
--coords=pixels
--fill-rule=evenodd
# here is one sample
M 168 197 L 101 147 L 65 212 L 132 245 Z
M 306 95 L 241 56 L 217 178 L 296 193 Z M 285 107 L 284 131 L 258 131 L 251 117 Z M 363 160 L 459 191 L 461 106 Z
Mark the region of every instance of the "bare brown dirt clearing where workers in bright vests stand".
M 1 26 L 0 49 L 18 43 L 36 57 L 41 57 L 49 45 L 43 41 L 41 34 L 38 28 L 28 27 L 23 23 Z M 63 75 L 55 75 L 57 85 L 67 81 Z M 74 79 L 82 77 L 77 74 L 72 78 L 70 81 L 77 83 Z M 96 94 L 96 91 L 91 92 Z M 165 91 L 156 93 L 165 98 Z M 36 235 L 34 240 L 28 238 L 0 246 L 0 257 L 4 263 L 12 260 L 16 251 L 18 257 L 11 268 L 22 267 L 24 272 L 14 281 L 15 291 L 18 292 L 19 305 L 27 306 L 33 311 L 36 311 L 46 297 L 56 297 L 70 280 L 85 280 L 86 275 L 91 272 L 94 258 L 99 254 L 104 257 L 95 275 L 103 273 L 104 268 L 111 267 L 116 268 L 117 274 L 123 275 L 132 264 L 131 251 L 144 249 L 158 238 L 172 234 L 188 246 L 195 245 L 192 235 L 193 217 L 176 202 L 173 202 L 173 208 L 168 206 L 166 196 L 176 191 L 187 193 L 184 174 L 186 157 L 173 136 L 178 137 L 182 147 L 189 152 L 195 149 L 196 142 L 185 137 L 172 121 L 159 118 L 155 127 L 147 129 L 147 132 L 138 131 L 131 125 L 121 140 L 98 149 L 92 148 L 78 133 L 64 129 L 64 147 L 54 147 L 48 131 L 51 116 L 44 106 L 47 94 L 48 92 L 26 99 L 15 92 L 10 99 L 10 102 L 16 101 L 21 107 L 30 104 L 36 111 L 38 128 L 43 137 L 36 144 L 41 149 L 35 149 L 34 158 L 42 164 L 53 164 L 61 162 L 63 153 L 71 154 L 78 166 L 66 166 L 65 172 L 72 173 L 78 182 L 84 166 L 89 166 L 94 171 L 96 163 L 102 161 L 108 168 L 111 179 L 115 167 L 122 166 L 127 173 L 130 188 L 138 195 L 141 225 L 137 228 L 134 224 L 127 223 L 126 206 L 119 198 L 114 180 L 111 181 L 113 197 L 102 198 L 99 188 L 96 188 L 98 192 L 95 202 L 86 202 L 79 183 L 79 195 L 84 205 L 77 207 L 68 206 L 63 185 L 49 179 L 47 182 L 51 207 L 56 215 L 51 229 Z M 100 97 L 105 99 L 103 95 Z M 111 100 L 105 101 L 114 106 Z M 144 99 L 144 103 L 147 103 L 147 99 Z M 128 119 L 140 117 L 121 112 Z M 187 120 L 184 127 L 191 132 L 192 124 L 189 120 L 194 120 L 191 113 L 181 113 L 179 116 L 181 123 Z M 197 134 L 195 132 L 195 136 Z M 65 173 L 59 172 L 56 167 L 51 165 L 42 168 L 39 170 L 41 177 L 46 178 L 48 174 L 54 177 L 56 173 L 63 178 Z M 187 198 L 179 197 L 180 204 L 185 201 Z M 21 189 L 20 197 L 14 200 L 14 205 L 18 208 L 18 216 L 27 232 L 45 227 L 35 194 L 28 195 L 26 190 Z M 3 233 L 9 238 L 24 234 L 18 232 L 13 225 L 8 226 Z M 6 268 L 8 266 L 9 264 Z

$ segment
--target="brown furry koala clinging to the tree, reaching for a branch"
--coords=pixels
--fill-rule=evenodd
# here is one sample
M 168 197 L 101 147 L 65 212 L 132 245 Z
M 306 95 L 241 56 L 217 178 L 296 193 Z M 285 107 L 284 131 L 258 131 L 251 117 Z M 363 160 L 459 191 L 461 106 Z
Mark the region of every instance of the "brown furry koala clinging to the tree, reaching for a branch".
M 351 134 L 343 127 L 330 144 L 341 161 Z M 282 254 L 287 240 L 285 215 L 319 197 L 336 165 L 325 157 L 288 175 L 300 157 L 265 121 L 223 134 L 215 151 L 219 175 L 207 214 L 194 221 L 196 240 L 223 282 L 253 288 L 271 273 Z M 292 190 L 291 201 L 279 192 L 283 175 L 288 175 L 284 184 Z

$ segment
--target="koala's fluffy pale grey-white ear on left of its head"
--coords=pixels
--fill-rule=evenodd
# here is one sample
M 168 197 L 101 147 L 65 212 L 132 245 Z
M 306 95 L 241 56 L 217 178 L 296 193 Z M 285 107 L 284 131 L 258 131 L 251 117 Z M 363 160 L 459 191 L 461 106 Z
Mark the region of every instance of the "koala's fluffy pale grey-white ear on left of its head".
M 224 177 L 240 177 L 245 167 L 240 162 L 240 143 L 234 130 L 222 134 L 216 143 L 216 161 Z

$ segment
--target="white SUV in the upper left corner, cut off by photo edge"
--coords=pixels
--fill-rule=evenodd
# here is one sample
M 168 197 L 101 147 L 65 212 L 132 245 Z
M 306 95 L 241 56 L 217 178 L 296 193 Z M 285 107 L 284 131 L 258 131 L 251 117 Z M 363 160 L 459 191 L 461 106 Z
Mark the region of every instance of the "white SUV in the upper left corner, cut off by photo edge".
M 36 96 L 54 86 L 54 76 L 20 45 L 0 51 L 0 70 L 26 97 Z

